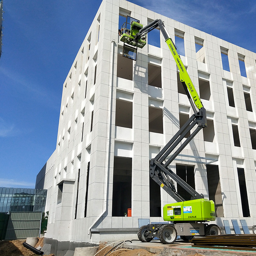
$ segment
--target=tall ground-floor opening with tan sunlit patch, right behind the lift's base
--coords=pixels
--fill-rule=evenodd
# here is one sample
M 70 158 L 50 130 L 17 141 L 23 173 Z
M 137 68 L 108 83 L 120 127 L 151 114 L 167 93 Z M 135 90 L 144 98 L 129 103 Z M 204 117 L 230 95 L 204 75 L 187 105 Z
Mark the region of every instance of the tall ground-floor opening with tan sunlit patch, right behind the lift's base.
M 219 167 L 206 165 L 209 199 L 215 202 L 216 217 L 224 217 Z

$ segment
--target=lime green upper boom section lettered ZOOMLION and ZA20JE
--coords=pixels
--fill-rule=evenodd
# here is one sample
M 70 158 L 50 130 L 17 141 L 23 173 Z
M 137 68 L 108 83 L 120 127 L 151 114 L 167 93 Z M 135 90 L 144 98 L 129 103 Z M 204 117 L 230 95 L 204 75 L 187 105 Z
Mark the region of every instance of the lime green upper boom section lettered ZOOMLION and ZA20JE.
M 196 91 L 196 89 L 195 89 L 195 87 L 194 87 L 194 85 L 193 85 L 193 83 L 192 83 L 192 81 L 191 81 L 191 79 L 190 79 L 190 77 L 187 73 L 187 70 L 185 69 L 185 66 L 184 66 L 183 62 L 182 62 L 179 54 L 176 51 L 174 43 L 172 42 L 172 40 L 170 38 L 168 38 L 166 40 L 166 43 L 168 44 L 168 47 L 170 48 L 172 56 L 173 56 L 177 66 L 180 70 L 180 79 L 181 79 L 181 81 L 185 82 L 185 84 L 187 85 L 188 91 L 189 91 L 191 97 L 193 98 L 197 108 L 201 109 L 203 107 L 203 105 L 202 105 L 202 102 L 200 100 L 200 97 L 197 94 L 197 91 Z

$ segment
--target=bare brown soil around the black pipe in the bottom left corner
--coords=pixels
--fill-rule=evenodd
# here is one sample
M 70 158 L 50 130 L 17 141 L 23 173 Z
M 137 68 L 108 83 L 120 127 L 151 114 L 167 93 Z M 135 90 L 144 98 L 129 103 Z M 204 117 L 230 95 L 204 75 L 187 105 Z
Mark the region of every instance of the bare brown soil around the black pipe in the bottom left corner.
M 26 242 L 26 240 L 12 240 L 12 241 L 0 241 L 0 255 L 1 256 L 37 256 L 37 254 L 34 254 L 27 248 L 23 246 L 23 242 Z M 37 245 L 35 247 L 38 247 L 39 245 L 43 246 L 43 238 L 40 238 Z M 54 256 L 53 254 L 47 255 L 47 256 Z

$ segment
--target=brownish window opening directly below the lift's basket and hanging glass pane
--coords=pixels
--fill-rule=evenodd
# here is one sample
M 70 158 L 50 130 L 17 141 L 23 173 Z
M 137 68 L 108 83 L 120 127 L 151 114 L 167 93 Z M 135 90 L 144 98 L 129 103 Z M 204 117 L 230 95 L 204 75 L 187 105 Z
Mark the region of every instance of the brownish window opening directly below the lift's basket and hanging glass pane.
M 117 55 L 117 77 L 132 80 L 132 60 L 124 58 L 121 54 Z

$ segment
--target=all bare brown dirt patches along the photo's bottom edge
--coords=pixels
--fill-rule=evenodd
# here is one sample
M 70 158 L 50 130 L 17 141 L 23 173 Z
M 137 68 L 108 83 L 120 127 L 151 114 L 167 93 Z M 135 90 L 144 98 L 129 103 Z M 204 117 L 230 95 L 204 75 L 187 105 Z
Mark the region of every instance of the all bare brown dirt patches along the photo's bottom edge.
M 12 241 L 0 241 L 0 256 L 36 256 L 27 248 L 23 246 L 23 242 L 26 240 L 12 240 Z M 43 238 L 40 238 L 37 245 L 43 246 Z M 113 248 L 111 246 L 106 246 L 106 243 L 101 243 L 97 251 L 96 256 L 157 256 L 157 254 L 150 253 L 144 249 L 127 249 L 127 248 Z M 104 248 L 105 247 L 105 248 Z M 102 250 L 101 250 L 102 249 Z M 45 255 L 45 256 L 54 256 L 54 254 Z M 159 253 L 161 256 L 161 253 Z M 202 256 L 201 254 L 194 254 L 192 256 Z

